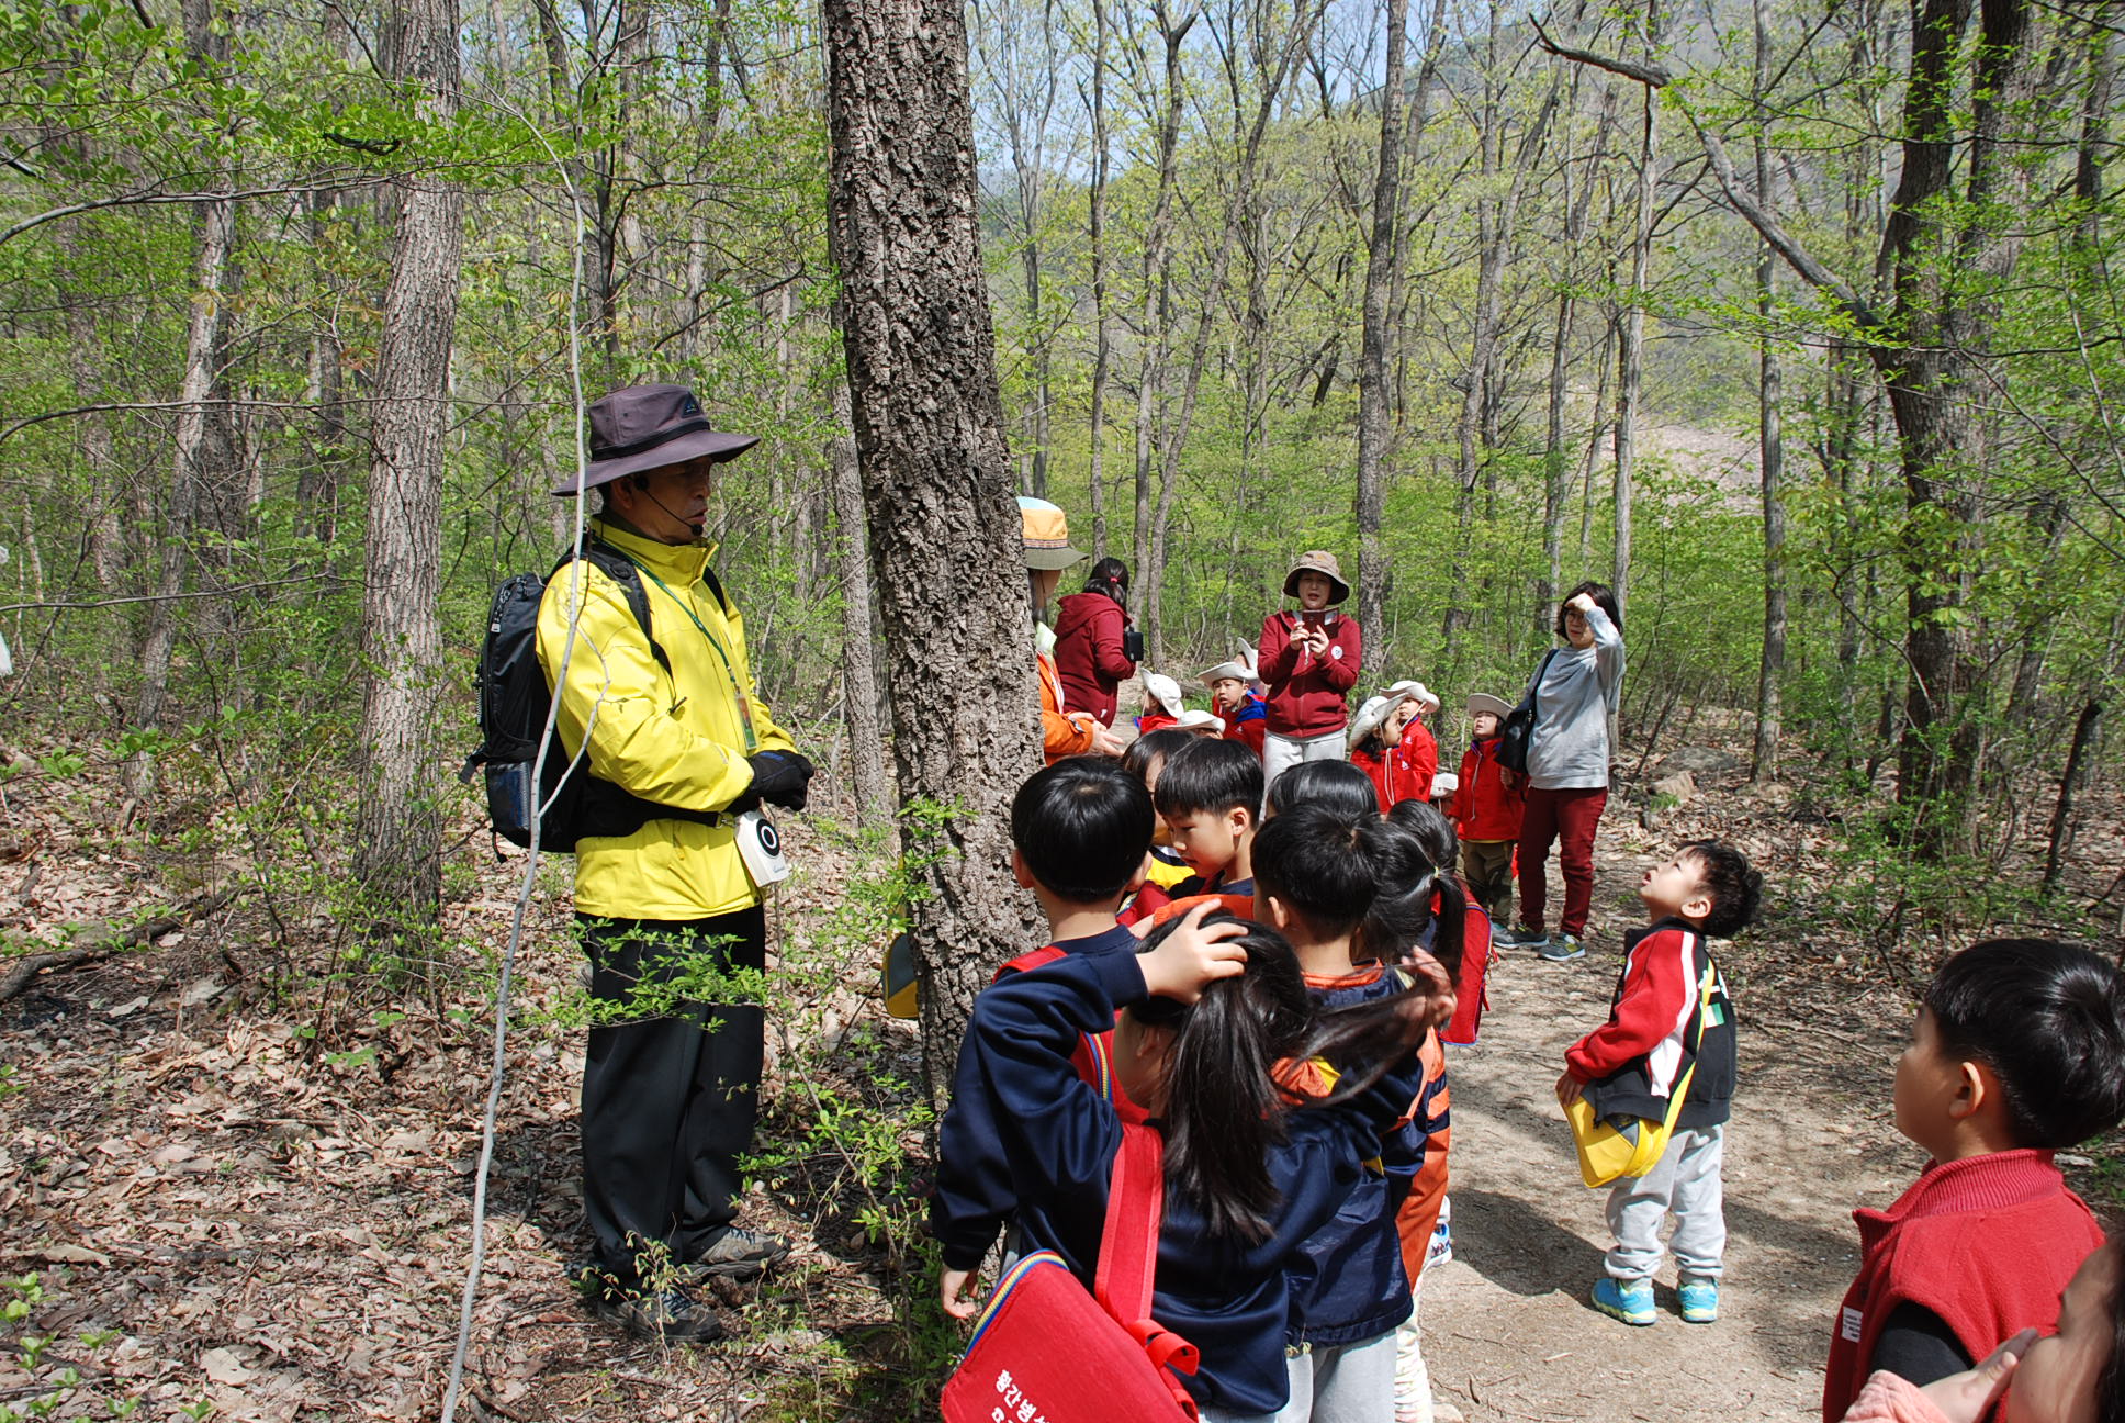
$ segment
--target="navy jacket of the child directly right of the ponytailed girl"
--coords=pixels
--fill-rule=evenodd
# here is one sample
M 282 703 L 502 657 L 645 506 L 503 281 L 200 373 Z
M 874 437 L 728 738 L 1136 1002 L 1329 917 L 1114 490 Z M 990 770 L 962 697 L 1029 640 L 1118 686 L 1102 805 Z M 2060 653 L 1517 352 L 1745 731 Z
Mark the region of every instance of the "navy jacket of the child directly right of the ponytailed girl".
M 1407 981 L 1381 966 L 1345 978 L 1307 976 L 1307 991 L 1322 1008 L 1343 1008 L 1398 993 Z M 1422 1089 L 1420 1089 L 1422 1091 Z M 1411 1110 L 1411 1102 L 1402 1102 Z M 1394 1123 L 1377 1140 L 1379 1170 L 1366 1168 L 1334 1219 L 1313 1232 L 1288 1280 L 1290 1344 L 1358 1344 L 1409 1319 L 1409 1272 L 1394 1206 L 1409 1193 L 1409 1178 L 1424 1163 L 1424 1136 L 1411 1121 Z

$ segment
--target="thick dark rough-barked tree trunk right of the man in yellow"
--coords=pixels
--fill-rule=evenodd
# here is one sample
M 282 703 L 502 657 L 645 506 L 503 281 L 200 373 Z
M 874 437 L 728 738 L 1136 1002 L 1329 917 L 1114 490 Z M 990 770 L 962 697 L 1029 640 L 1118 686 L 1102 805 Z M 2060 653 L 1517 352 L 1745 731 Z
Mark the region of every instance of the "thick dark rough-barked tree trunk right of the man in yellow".
M 890 666 L 931 1083 L 1033 942 L 1005 806 L 1039 768 L 1024 557 L 982 277 L 967 32 L 952 0 L 827 0 L 831 249 Z M 988 676 L 952 676 L 967 657 Z

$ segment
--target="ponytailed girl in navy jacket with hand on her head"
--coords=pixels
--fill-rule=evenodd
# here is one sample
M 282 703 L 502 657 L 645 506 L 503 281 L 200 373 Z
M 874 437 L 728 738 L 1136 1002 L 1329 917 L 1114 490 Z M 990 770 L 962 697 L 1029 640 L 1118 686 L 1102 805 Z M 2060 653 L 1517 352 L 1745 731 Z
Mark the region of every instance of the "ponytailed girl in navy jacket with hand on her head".
M 1279 934 L 1196 910 L 1141 957 L 1069 955 L 975 1002 L 960 1081 L 986 1083 L 1005 1108 L 997 1129 L 1026 1244 L 1056 1251 L 1086 1285 L 1122 1127 L 1069 1053 L 1114 1023 L 1116 1076 L 1164 1138 L 1152 1317 L 1201 1351 L 1186 1387 L 1205 1423 L 1284 1408 L 1286 1268 L 1407 1110 L 1417 1089 L 1409 1049 L 1443 991 L 1443 976 L 1428 978 L 1324 1019 Z M 1292 1104 L 1271 1064 L 1324 1055 L 1343 1068 L 1334 1093 Z M 963 1319 L 978 1308 L 969 1283 L 967 1270 L 941 1280 L 946 1310 Z

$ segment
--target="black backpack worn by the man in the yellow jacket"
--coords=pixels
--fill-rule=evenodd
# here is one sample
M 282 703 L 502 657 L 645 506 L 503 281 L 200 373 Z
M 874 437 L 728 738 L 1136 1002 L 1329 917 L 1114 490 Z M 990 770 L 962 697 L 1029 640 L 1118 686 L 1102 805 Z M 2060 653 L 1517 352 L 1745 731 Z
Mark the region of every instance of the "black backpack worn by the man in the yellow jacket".
M 650 623 L 648 591 L 633 562 L 608 542 L 586 538 L 578 553 L 561 555 L 544 579 L 521 572 L 495 589 L 487 613 L 487 640 L 480 644 L 480 668 L 472 685 L 480 693 L 480 749 L 465 757 L 459 781 L 470 783 L 476 768 L 487 770 L 487 815 L 495 834 L 510 844 L 531 844 L 531 819 L 540 806 L 538 847 L 557 855 L 574 855 L 586 836 L 631 836 L 648 821 L 697 821 L 714 825 L 714 810 L 682 810 L 663 806 L 591 774 L 589 759 L 574 761 L 561 736 L 555 734 L 540 755 L 540 736 L 552 708 L 546 670 L 538 659 L 538 608 L 546 585 L 576 559 L 612 579 L 627 598 L 629 610 L 642 623 L 657 666 L 672 674 L 672 659 L 657 642 Z M 706 574 L 710 591 L 722 600 L 714 574 Z M 584 649 L 576 649 L 584 655 Z

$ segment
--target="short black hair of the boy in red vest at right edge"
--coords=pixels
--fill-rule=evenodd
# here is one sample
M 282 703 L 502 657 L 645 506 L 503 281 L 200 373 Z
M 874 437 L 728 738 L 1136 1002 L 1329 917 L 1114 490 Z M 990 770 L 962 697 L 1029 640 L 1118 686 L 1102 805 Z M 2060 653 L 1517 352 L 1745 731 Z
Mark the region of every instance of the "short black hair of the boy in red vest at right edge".
M 1925 989 L 1940 1047 L 2000 1078 L 2017 1146 L 2061 1151 L 2125 1119 L 2125 976 L 2051 938 L 1989 938 Z

